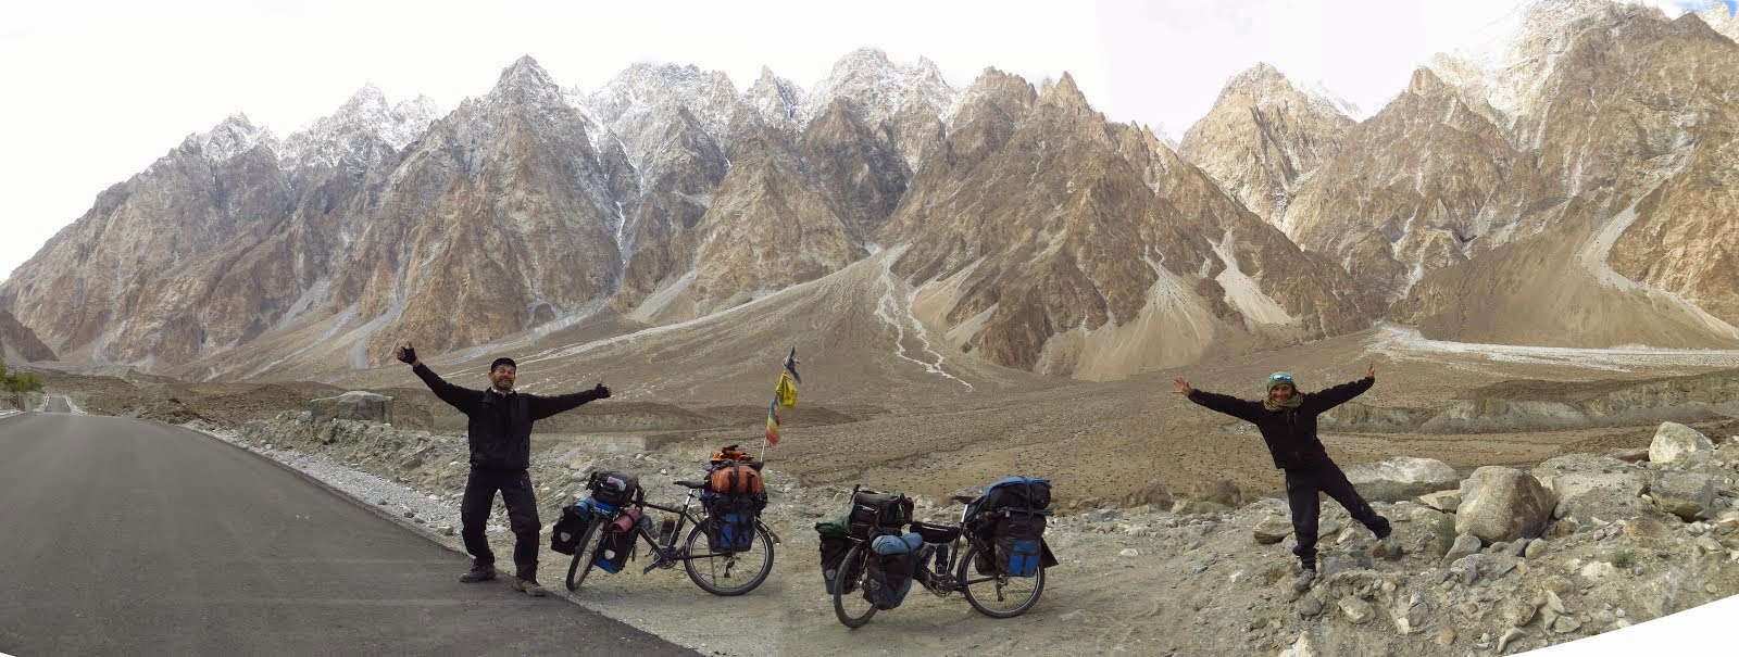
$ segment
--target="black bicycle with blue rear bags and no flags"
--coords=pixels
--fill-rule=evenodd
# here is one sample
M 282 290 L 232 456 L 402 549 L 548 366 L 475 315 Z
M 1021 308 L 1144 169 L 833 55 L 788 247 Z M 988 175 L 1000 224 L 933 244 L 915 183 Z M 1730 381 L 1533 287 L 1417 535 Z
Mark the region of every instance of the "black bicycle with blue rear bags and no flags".
M 962 501 L 969 502 L 970 497 Z M 1012 619 L 1033 608 L 1038 594 L 1045 593 L 1045 568 L 1036 568 L 1031 577 L 1009 575 L 996 567 L 995 548 L 963 535 L 960 527 L 913 521 L 911 530 L 923 537 L 913 586 L 923 586 L 937 598 L 958 591 L 979 614 Z M 871 556 L 875 553 L 870 541 L 852 537 L 852 549 L 840 561 L 840 575 L 833 584 L 833 615 L 845 627 L 863 627 L 880 610 L 866 594 Z

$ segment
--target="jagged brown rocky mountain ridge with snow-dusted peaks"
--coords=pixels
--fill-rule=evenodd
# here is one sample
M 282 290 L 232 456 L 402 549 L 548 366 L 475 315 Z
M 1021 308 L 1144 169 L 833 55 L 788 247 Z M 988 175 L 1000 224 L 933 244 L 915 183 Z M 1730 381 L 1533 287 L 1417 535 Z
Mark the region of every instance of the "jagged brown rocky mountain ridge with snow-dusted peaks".
M 1379 316 L 1739 344 L 1739 203 L 1708 182 L 1732 40 L 1603 0 L 1525 24 L 1509 59 L 1440 57 L 1358 123 L 1257 66 L 1183 155 L 1068 75 L 956 90 L 861 49 L 807 92 L 636 64 L 588 94 L 525 57 L 438 118 L 365 89 L 282 143 L 240 115 L 191 136 L 0 283 L 0 309 L 73 365 L 332 374 L 407 339 L 475 358 L 670 327 L 897 249 L 890 309 L 927 341 L 1080 379 Z

